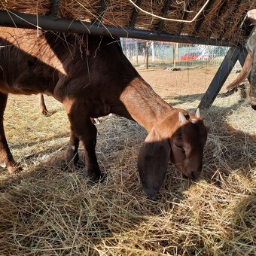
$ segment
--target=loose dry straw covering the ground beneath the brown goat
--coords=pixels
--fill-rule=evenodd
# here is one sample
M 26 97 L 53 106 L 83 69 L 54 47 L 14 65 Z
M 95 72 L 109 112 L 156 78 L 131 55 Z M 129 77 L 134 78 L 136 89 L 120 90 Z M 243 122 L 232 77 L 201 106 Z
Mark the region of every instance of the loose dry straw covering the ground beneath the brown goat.
M 198 95 L 169 102 L 192 109 Z M 35 96 L 11 96 L 5 126 L 17 176 L 0 172 L 0 251 L 5 255 L 254 255 L 256 119 L 239 93 L 205 113 L 209 139 L 200 181 L 169 165 L 157 200 L 147 200 L 136 160 L 146 133 L 107 117 L 97 155 L 105 181 L 88 184 L 84 167 L 63 163 L 69 123 L 61 105 L 41 117 Z M 82 151 L 80 150 L 82 154 Z

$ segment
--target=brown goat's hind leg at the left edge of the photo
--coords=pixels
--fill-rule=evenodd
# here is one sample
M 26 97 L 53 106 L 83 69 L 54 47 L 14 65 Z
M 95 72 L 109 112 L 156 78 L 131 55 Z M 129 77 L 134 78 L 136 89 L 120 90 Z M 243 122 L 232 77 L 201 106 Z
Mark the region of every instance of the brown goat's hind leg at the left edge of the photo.
M 0 93 L 0 163 L 2 166 L 7 167 L 9 172 L 17 173 L 20 172 L 22 168 L 14 161 L 14 157 L 11 154 L 5 138 L 3 120 L 7 99 L 7 94 Z

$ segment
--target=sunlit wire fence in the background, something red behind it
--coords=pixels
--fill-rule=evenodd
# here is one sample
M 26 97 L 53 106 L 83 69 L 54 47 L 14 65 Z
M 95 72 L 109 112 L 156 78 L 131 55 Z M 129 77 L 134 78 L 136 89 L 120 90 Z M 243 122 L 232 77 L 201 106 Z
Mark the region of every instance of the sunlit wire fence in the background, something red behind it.
M 123 53 L 134 66 L 194 67 L 220 66 L 229 47 L 178 44 L 121 38 Z M 236 64 L 235 69 L 239 69 Z

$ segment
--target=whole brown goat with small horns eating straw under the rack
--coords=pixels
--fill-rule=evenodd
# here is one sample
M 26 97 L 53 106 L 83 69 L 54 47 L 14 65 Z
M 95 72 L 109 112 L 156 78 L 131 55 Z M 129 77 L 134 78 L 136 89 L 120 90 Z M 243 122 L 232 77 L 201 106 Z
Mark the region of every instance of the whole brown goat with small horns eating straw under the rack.
M 87 173 L 99 179 L 96 126 L 90 117 L 110 113 L 136 120 L 148 131 L 139 151 L 138 169 L 148 197 L 163 184 L 169 160 L 188 178 L 200 175 L 206 128 L 200 117 L 170 107 L 141 78 L 108 37 L 62 35 L 29 29 L 0 30 L 0 162 L 15 163 L 5 139 L 3 114 L 8 93 L 44 93 L 62 102 L 71 123 L 67 162 L 78 162 L 84 146 Z

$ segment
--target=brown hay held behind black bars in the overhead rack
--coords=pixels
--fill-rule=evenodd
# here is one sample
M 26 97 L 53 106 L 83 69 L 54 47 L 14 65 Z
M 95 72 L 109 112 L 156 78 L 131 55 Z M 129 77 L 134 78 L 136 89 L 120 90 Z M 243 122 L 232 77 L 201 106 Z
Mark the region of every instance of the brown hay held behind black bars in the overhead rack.
M 136 2 L 136 1 L 135 1 Z M 140 7 L 151 14 L 163 17 L 165 0 L 142 0 Z M 205 4 L 206 0 L 171 1 L 166 17 L 178 20 L 192 20 Z M 106 8 L 101 8 L 101 1 L 60 0 L 59 17 L 77 20 L 97 21 L 114 26 L 129 26 L 133 17 L 134 6 L 129 1 L 108 0 Z M 212 0 L 194 23 L 165 21 L 163 31 L 172 34 L 197 35 L 201 38 L 223 38 L 241 42 L 244 31 L 239 28 L 245 13 L 255 8 L 254 0 L 229 1 Z M 0 0 L 0 9 L 21 11 L 31 14 L 50 13 L 50 0 Z M 157 30 L 159 19 L 139 11 L 135 23 L 138 29 Z

